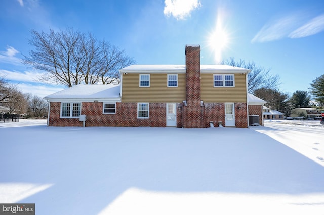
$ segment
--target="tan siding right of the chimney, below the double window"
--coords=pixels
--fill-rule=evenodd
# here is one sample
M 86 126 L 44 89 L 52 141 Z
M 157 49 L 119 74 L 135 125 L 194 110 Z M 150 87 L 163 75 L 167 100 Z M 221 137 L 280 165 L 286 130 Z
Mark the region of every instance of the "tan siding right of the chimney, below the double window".
M 247 102 L 246 75 L 235 74 L 235 87 L 214 87 L 212 73 L 201 74 L 201 100 L 204 102 Z

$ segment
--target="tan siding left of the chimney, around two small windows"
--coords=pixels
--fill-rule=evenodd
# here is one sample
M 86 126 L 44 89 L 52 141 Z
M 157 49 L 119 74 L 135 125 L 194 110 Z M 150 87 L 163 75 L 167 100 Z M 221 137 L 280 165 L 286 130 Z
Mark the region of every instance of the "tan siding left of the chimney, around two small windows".
M 186 100 L 186 74 L 178 74 L 178 87 L 167 87 L 167 73 L 150 73 L 150 87 L 139 87 L 139 73 L 123 75 L 121 102 L 182 102 Z

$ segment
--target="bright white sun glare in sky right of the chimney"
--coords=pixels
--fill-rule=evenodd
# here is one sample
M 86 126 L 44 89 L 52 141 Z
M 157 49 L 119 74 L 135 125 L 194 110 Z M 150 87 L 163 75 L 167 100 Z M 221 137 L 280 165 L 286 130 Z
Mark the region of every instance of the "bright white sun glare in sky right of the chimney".
M 217 18 L 216 27 L 208 36 L 208 46 L 214 52 L 215 61 L 219 63 L 222 60 L 222 52 L 229 44 L 229 34 L 223 27 L 220 16 Z

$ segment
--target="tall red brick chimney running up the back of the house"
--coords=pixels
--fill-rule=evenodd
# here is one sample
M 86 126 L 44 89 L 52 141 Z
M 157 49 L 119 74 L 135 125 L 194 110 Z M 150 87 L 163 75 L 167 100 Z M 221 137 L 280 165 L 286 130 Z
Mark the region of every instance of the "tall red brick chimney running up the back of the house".
M 203 107 L 200 105 L 200 45 L 186 45 L 186 103 L 183 127 L 203 127 Z

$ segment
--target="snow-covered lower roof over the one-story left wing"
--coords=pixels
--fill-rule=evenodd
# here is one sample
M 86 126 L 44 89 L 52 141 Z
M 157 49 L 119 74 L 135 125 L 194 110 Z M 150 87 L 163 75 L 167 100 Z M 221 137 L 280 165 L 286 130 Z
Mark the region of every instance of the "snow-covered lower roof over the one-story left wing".
M 120 101 L 119 97 L 120 85 L 106 84 L 78 84 L 73 87 L 61 90 L 45 97 L 49 101 L 58 100 L 116 100 Z

